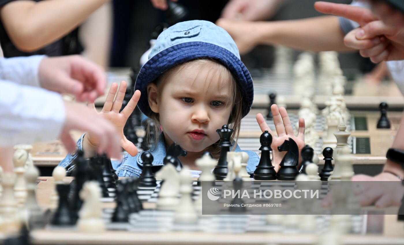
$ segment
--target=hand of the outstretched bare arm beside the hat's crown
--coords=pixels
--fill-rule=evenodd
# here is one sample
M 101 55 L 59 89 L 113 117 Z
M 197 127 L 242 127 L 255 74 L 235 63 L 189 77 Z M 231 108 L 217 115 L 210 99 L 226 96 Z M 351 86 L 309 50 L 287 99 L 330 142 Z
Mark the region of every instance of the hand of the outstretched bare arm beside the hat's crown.
M 221 18 L 216 21 L 216 25 L 222 27 L 230 34 L 240 54 L 246 54 L 258 45 L 260 31 L 256 31 L 257 23 Z

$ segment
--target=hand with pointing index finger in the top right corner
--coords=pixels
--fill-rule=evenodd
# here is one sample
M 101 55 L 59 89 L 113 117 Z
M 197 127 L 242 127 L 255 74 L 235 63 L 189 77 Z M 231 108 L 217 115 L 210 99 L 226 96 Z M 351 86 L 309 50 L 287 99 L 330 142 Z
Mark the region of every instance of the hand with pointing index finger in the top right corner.
M 360 24 L 349 32 L 345 45 L 360 50 L 375 63 L 404 59 L 404 17 L 386 4 L 374 3 L 375 14 L 366 8 L 347 4 L 317 2 L 321 13 L 339 15 Z M 379 19 L 380 18 L 380 19 Z

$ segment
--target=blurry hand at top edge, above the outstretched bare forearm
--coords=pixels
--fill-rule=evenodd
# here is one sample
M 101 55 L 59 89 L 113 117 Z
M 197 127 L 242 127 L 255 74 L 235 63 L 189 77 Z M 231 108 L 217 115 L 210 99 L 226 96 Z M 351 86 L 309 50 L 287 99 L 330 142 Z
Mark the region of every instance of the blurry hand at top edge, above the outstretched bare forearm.
M 231 0 L 222 11 L 222 18 L 261 21 L 271 18 L 284 0 Z

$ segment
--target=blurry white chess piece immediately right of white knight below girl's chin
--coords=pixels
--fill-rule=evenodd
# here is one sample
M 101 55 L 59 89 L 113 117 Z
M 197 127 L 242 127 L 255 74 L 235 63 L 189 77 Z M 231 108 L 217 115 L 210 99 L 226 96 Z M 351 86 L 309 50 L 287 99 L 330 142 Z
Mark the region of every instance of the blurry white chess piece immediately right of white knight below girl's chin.
M 181 186 L 181 199 L 175 211 L 174 222 L 192 224 L 198 221 L 198 214 L 192 203 L 192 177 L 188 166 L 184 166 L 179 172 Z

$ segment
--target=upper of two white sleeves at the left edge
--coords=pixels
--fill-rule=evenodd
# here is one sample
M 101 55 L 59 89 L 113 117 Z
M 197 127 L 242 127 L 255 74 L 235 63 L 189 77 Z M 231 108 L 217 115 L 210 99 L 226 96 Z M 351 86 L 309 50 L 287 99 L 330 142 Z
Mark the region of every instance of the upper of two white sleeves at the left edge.
M 45 55 L 0 59 L 0 79 L 40 87 L 38 68 Z

